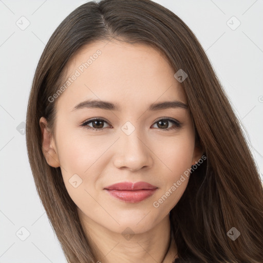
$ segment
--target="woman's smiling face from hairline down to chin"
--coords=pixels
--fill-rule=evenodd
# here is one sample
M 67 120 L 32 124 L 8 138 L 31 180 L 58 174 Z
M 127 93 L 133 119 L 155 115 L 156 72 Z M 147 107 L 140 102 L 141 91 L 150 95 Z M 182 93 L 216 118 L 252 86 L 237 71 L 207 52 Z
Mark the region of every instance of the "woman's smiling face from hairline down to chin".
M 185 191 L 185 171 L 201 155 L 175 73 L 152 47 L 117 41 L 85 46 L 70 61 L 70 80 L 49 98 L 57 103 L 55 134 L 50 141 L 45 135 L 43 145 L 87 222 L 146 232 Z M 164 102 L 175 103 L 158 106 Z M 130 185 L 109 187 L 121 182 Z M 136 182 L 152 187 L 133 188 Z

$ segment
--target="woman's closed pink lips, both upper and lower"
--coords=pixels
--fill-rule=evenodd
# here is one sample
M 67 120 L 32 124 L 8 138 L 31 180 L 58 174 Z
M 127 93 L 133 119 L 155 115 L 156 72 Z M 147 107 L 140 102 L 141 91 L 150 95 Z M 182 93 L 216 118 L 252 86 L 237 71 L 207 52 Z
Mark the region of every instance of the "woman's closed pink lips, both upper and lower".
M 107 192 L 120 200 L 129 203 L 137 203 L 153 195 L 157 186 L 146 182 L 121 182 L 104 188 Z

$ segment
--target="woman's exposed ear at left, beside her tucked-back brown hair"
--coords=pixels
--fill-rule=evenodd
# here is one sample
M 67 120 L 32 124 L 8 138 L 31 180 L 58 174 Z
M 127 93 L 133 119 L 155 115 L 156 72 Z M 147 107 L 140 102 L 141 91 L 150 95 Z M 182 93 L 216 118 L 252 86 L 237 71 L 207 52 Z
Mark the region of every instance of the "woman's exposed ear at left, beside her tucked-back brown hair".
M 60 167 L 57 148 L 55 147 L 53 136 L 47 127 L 47 120 L 44 117 L 41 117 L 39 124 L 42 133 L 42 152 L 46 161 L 52 167 Z

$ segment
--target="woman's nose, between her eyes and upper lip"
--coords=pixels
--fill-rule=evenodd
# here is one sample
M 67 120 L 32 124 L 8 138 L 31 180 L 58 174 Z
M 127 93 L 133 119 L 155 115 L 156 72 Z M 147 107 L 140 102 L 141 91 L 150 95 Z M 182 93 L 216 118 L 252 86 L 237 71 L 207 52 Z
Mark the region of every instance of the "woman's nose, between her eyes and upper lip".
M 114 165 L 129 171 L 139 171 L 153 165 L 153 152 L 149 142 L 142 138 L 139 129 L 130 135 L 120 134 L 115 145 Z

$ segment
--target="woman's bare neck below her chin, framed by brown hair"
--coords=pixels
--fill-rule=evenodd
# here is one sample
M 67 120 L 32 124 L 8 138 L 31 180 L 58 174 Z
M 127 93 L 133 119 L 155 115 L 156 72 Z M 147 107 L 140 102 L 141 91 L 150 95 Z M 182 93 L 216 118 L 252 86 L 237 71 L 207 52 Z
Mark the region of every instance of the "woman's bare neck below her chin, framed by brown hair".
M 95 248 L 96 262 L 101 263 L 171 263 L 177 254 L 167 215 L 153 229 L 133 236 L 110 231 L 80 212 L 86 235 Z

